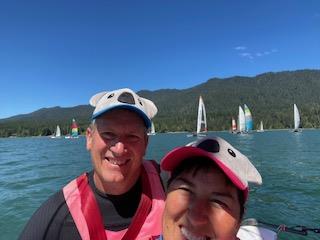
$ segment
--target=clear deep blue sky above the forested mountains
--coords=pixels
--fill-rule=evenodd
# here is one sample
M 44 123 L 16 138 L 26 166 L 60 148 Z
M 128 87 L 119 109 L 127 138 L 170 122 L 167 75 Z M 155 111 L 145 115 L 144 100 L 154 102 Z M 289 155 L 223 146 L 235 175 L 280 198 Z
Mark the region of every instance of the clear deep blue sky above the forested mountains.
M 103 90 L 320 69 L 318 0 L 11 0 L 0 34 L 0 118 Z

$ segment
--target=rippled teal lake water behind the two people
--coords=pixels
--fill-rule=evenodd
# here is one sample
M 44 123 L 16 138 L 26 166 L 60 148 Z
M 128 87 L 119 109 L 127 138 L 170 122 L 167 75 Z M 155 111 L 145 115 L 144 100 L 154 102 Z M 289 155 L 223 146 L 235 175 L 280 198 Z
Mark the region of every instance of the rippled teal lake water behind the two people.
M 320 227 L 320 131 L 211 132 L 246 154 L 263 177 L 251 187 L 246 218 Z M 186 133 L 150 137 L 147 158 L 159 160 L 194 138 Z M 0 139 L 0 239 L 16 239 L 33 212 L 68 181 L 91 169 L 85 138 Z M 279 239 L 320 239 L 281 233 Z

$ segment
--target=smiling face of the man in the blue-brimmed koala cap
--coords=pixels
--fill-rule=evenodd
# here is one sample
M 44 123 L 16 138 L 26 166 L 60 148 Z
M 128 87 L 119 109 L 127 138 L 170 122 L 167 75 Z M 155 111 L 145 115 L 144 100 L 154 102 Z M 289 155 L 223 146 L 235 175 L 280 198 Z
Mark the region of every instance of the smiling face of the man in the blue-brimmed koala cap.
M 96 119 L 87 130 L 96 187 L 114 195 L 128 191 L 140 176 L 147 143 L 144 122 L 133 111 L 117 109 Z

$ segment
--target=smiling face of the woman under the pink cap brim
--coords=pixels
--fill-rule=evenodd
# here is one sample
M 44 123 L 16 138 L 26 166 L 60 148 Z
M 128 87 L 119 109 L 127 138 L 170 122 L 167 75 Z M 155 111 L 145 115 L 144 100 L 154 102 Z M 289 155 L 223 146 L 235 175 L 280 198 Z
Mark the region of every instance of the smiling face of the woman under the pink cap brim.
M 163 215 L 165 240 L 237 239 L 236 187 L 217 168 L 184 171 L 170 184 Z

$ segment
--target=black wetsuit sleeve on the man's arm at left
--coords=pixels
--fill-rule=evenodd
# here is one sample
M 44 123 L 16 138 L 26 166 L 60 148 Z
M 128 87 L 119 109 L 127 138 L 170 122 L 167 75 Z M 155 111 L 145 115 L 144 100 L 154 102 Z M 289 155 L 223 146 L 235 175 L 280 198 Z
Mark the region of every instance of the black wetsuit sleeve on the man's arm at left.
M 19 239 L 59 239 L 61 227 L 68 214 L 63 192 L 59 191 L 33 214 Z

